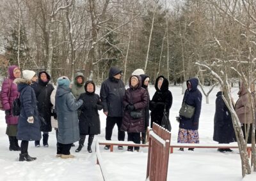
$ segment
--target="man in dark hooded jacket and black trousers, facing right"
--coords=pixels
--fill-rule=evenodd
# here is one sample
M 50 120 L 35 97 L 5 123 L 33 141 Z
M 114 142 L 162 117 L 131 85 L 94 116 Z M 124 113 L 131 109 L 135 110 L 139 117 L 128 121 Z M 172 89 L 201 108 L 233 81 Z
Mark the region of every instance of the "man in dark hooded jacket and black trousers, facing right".
M 105 80 L 100 88 L 100 99 L 103 105 L 103 112 L 107 116 L 106 122 L 106 140 L 111 140 L 113 127 L 115 124 L 118 127 L 118 140 L 124 141 L 125 133 L 120 130 L 122 124 L 122 112 L 123 112 L 123 97 L 125 94 L 125 85 L 121 80 L 120 69 L 112 67 L 109 70 L 109 78 Z M 109 145 L 104 147 L 109 149 Z M 122 146 L 118 146 L 118 149 L 123 149 Z

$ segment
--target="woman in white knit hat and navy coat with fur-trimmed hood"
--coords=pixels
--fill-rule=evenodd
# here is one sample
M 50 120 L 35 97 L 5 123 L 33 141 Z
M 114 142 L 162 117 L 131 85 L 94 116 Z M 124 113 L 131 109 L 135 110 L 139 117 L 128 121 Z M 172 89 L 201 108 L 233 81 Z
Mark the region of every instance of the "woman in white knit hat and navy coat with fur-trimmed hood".
M 28 154 L 28 141 L 41 139 L 40 119 L 36 108 L 36 94 L 31 87 L 32 82 L 36 82 L 37 76 L 35 71 L 22 71 L 23 78 L 16 78 L 15 83 L 18 85 L 20 92 L 20 115 L 17 131 L 17 139 L 20 143 L 19 161 L 34 161 L 36 157 Z

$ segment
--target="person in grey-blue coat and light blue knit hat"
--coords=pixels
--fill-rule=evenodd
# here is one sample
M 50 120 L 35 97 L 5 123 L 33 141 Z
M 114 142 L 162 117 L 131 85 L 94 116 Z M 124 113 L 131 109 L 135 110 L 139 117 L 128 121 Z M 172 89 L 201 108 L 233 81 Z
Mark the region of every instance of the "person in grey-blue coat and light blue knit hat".
M 58 78 L 55 97 L 55 109 L 58 117 L 57 157 L 72 158 L 70 148 L 79 140 L 77 110 L 83 105 L 83 100 L 76 101 L 70 89 L 67 78 Z

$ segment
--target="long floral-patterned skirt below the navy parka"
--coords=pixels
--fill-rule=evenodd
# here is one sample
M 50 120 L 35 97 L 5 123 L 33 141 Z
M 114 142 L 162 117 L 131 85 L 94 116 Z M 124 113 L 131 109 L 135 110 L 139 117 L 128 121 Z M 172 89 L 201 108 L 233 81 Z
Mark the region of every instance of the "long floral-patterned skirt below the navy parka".
M 179 129 L 178 143 L 199 143 L 198 130 Z

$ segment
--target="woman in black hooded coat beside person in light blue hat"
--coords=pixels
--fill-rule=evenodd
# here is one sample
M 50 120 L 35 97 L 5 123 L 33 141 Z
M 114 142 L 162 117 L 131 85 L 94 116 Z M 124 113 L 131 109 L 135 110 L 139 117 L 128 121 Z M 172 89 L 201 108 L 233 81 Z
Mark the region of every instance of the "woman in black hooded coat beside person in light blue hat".
M 86 135 L 88 138 L 87 150 L 92 153 L 92 141 L 95 134 L 100 134 L 100 117 L 98 110 L 102 110 L 103 106 L 100 102 L 100 96 L 95 94 L 95 84 L 92 80 L 87 81 L 84 85 L 85 93 L 82 93 L 79 99 L 84 101 L 79 108 L 79 147 L 76 152 L 80 152 L 84 146 Z

